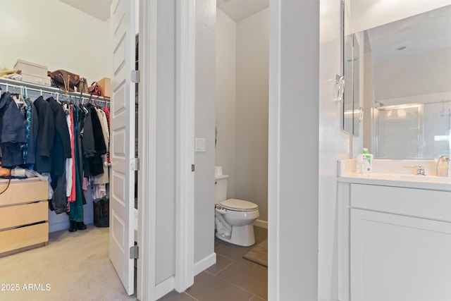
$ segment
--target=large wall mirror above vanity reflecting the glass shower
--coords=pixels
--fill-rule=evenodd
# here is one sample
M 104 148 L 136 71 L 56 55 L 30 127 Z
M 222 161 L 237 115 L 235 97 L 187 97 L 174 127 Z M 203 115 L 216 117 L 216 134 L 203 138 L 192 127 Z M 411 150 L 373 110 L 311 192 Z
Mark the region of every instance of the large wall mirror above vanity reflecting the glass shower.
M 360 42 L 363 39 L 359 59 L 363 71 L 359 74 L 359 68 L 349 70 L 353 70 L 352 82 L 362 90 L 364 119 L 369 121 L 355 119 L 358 97 L 345 101 L 349 104 L 344 115 L 351 104 L 353 110 L 350 133 L 356 133 L 356 123 L 364 124 L 364 147 L 369 147 L 377 158 L 432 159 L 449 155 L 451 6 L 345 35 L 345 43 L 352 36 L 361 37 Z M 354 56 L 354 51 L 354 47 L 345 47 L 345 58 Z M 355 87 L 350 89 L 346 86 L 345 98 L 350 91 L 359 95 Z

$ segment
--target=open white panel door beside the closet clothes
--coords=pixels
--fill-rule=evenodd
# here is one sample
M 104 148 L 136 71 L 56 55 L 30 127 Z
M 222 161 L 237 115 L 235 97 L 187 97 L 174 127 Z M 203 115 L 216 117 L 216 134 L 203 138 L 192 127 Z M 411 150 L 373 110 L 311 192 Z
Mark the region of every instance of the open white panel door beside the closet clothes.
M 111 78 L 110 259 L 128 295 L 134 293 L 135 245 L 135 0 L 111 4 L 113 75 Z

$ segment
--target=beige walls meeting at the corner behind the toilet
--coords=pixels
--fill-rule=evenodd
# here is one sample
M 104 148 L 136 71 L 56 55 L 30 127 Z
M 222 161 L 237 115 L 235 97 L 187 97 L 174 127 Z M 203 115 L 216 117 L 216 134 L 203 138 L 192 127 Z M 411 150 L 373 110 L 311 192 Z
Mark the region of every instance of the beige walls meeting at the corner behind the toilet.
M 268 221 L 269 8 L 235 23 L 216 20 L 216 165 L 230 176 L 228 197 L 259 205 Z

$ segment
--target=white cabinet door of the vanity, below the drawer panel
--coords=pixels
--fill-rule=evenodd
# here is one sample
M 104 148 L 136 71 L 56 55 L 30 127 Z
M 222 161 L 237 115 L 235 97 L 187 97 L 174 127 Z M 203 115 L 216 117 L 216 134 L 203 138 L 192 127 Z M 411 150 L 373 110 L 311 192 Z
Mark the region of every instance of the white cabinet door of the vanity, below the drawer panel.
M 352 209 L 351 300 L 451 300 L 451 223 Z

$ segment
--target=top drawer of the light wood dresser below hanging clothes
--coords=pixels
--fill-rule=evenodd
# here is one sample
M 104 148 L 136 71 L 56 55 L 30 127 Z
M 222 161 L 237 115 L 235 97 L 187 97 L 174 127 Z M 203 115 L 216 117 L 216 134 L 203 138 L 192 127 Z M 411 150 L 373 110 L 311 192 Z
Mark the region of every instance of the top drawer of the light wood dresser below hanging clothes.
M 0 180 L 0 191 L 8 185 L 8 180 Z M 39 178 L 13 179 L 8 189 L 0 195 L 0 207 L 11 204 L 42 201 L 48 198 L 48 182 Z

